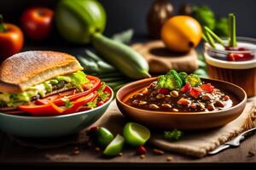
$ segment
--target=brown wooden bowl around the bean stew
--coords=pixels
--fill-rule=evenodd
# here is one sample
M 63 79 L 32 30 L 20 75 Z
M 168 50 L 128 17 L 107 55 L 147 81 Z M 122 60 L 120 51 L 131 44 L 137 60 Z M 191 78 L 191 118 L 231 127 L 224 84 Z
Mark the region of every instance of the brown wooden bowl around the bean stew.
M 201 112 L 164 112 L 146 111 L 137 109 L 131 105 L 126 105 L 122 99 L 132 92 L 148 86 L 157 77 L 131 82 L 120 88 L 116 95 L 117 105 L 123 115 L 131 118 L 134 122 L 142 123 L 148 127 L 160 129 L 177 128 L 181 130 L 198 130 L 213 127 L 221 127 L 233 121 L 241 115 L 247 102 L 247 94 L 242 88 L 230 82 L 223 82 L 212 79 L 202 79 L 206 83 L 211 83 L 214 87 L 225 92 L 234 94 L 238 99 L 238 104 L 222 111 L 201 111 Z

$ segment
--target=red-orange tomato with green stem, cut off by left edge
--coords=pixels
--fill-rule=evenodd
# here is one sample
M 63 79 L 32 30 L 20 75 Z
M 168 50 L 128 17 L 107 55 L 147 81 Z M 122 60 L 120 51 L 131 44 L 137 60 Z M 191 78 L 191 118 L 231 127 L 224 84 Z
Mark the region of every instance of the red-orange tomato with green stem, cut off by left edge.
M 18 26 L 3 23 L 0 15 L 0 63 L 9 56 L 19 53 L 23 47 L 23 33 Z

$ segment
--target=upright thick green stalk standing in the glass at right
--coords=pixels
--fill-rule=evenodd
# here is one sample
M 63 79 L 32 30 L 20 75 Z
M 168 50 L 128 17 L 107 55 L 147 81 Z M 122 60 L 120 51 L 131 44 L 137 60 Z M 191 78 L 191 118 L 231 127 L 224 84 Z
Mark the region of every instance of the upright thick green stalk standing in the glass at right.
M 230 25 L 230 47 L 236 47 L 236 15 L 229 14 L 229 25 Z

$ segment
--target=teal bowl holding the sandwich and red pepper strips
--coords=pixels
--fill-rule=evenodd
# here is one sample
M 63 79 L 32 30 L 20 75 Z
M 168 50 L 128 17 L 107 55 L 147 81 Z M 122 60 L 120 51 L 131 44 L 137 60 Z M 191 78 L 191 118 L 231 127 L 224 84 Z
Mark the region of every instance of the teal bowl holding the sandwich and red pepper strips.
M 113 99 L 113 90 L 109 88 L 109 91 L 111 97 L 108 102 L 89 111 L 63 116 L 14 116 L 0 113 L 0 129 L 4 133 L 26 138 L 54 138 L 78 133 L 107 111 Z

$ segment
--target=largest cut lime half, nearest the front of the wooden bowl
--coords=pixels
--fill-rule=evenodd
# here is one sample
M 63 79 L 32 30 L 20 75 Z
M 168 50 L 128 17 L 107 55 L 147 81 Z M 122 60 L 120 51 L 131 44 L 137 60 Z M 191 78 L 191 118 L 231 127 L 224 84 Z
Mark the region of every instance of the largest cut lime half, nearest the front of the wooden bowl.
M 143 127 L 135 122 L 128 122 L 125 124 L 123 134 L 125 142 L 132 146 L 140 146 L 147 142 L 150 138 L 150 131 L 147 127 Z

